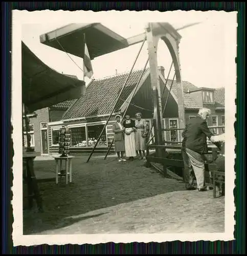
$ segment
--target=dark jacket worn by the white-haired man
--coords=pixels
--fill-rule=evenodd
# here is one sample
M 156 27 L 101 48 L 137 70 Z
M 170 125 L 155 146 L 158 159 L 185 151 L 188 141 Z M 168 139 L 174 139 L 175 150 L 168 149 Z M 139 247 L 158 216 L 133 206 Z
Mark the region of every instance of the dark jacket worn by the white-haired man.
M 182 136 L 184 137 L 183 148 L 190 148 L 200 154 L 208 153 L 207 137 L 210 139 L 213 134 L 210 132 L 206 120 L 199 115 L 189 120 Z

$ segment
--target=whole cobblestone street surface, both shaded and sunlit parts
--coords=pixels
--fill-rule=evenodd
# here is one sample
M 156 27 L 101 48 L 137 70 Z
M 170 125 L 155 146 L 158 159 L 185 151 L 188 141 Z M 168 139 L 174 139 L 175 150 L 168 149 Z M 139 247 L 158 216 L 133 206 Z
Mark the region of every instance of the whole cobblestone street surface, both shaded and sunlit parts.
M 224 232 L 224 197 L 185 190 L 143 161 L 77 156 L 73 183 L 40 182 L 44 213 L 24 210 L 24 234 Z M 55 177 L 53 160 L 35 161 Z

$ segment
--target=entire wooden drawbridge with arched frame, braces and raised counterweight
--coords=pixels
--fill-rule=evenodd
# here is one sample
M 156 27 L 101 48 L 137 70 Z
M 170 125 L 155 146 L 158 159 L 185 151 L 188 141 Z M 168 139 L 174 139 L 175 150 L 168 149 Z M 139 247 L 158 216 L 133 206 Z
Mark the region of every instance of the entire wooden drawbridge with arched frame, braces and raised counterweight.
M 152 102 L 153 102 L 153 117 L 151 122 L 151 127 L 149 129 L 148 141 L 147 141 L 147 165 L 151 163 L 161 163 L 163 165 L 163 172 L 166 175 L 167 166 L 183 167 L 183 161 L 179 159 L 170 159 L 167 157 L 167 150 L 181 150 L 181 141 L 168 145 L 165 141 L 165 131 L 176 130 L 178 131 L 178 138 L 182 138 L 182 130 L 185 127 L 185 109 L 184 109 L 184 91 L 183 91 L 183 81 L 181 72 L 181 63 L 179 60 L 179 42 L 182 36 L 178 33 L 179 30 L 185 29 L 190 26 L 197 25 L 198 23 L 189 24 L 179 29 L 173 28 L 169 23 L 147 23 L 144 32 L 142 34 L 132 36 L 130 38 L 123 38 L 108 28 L 104 27 L 100 23 L 94 24 L 71 24 L 55 31 L 51 31 L 40 36 L 40 42 L 44 45 L 59 49 L 71 53 L 73 55 L 83 57 L 81 51 L 81 41 L 82 34 L 86 34 L 88 51 L 91 55 L 91 59 L 95 57 L 114 52 L 120 49 L 127 48 L 131 45 L 141 43 L 140 50 L 137 53 L 136 58 L 131 66 L 131 69 L 126 77 L 126 80 L 121 88 L 121 91 L 115 101 L 115 104 L 105 122 L 105 125 L 97 139 L 97 142 L 89 155 L 87 162 L 91 159 L 95 152 L 95 149 L 106 129 L 110 118 L 115 112 L 115 108 L 121 99 L 121 94 L 123 93 L 128 80 L 130 79 L 131 73 L 133 71 L 134 65 L 136 65 L 137 59 L 143 49 L 145 42 L 147 43 L 148 57 L 144 63 L 143 71 L 138 79 L 136 87 L 130 93 L 128 99 L 124 102 L 124 108 L 121 109 L 122 120 L 126 115 L 129 106 L 134 103 L 133 97 L 136 95 L 140 87 L 142 77 L 145 74 L 147 64 L 149 63 L 150 72 L 150 87 L 152 91 Z M 96 38 L 101 38 L 96 40 Z M 160 71 L 158 68 L 158 44 L 160 41 L 164 41 L 169 53 L 172 57 L 172 63 L 168 73 L 168 77 L 165 81 L 165 87 L 161 87 L 160 84 Z M 61 49 L 63 45 L 63 49 Z M 169 88 L 168 95 L 166 97 L 165 103 L 162 104 L 162 97 L 164 95 L 166 83 L 170 76 L 171 69 L 175 70 L 172 83 Z M 179 129 L 164 129 L 163 115 L 167 110 L 167 102 L 171 94 L 171 88 L 173 82 L 176 82 L 176 94 L 177 94 L 177 108 L 178 108 L 178 127 Z M 110 151 L 111 146 L 114 143 L 114 139 L 108 146 L 107 155 Z M 149 154 L 150 150 L 154 150 L 155 154 Z

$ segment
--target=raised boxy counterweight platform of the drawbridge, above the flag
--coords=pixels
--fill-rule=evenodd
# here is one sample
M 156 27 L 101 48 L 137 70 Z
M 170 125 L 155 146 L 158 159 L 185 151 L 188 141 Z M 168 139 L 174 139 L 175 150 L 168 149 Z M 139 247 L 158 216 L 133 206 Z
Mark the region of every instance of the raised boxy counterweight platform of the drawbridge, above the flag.
M 83 34 L 91 59 L 129 46 L 126 38 L 100 23 L 70 24 L 40 35 L 40 42 L 78 57 L 82 55 Z

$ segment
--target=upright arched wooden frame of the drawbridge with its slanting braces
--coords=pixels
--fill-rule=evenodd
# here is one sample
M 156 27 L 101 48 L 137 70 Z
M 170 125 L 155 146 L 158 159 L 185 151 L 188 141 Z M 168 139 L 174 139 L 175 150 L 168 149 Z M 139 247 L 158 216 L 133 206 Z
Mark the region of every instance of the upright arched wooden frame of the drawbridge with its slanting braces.
M 194 24 L 193 24 L 194 25 Z M 154 162 L 160 162 L 160 159 L 162 158 L 162 162 L 170 161 L 170 159 L 165 158 L 165 151 L 166 147 L 164 146 L 164 124 L 162 122 L 163 114 L 167 108 L 167 102 L 168 98 L 171 92 L 171 87 L 173 84 L 174 79 L 176 79 L 176 91 L 177 91 L 177 105 L 178 105 L 178 120 L 179 120 L 179 127 L 184 127 L 185 126 L 185 111 L 184 111 L 184 94 L 183 94 L 183 82 L 182 82 L 182 75 L 181 75 L 181 64 L 179 60 L 179 42 L 181 40 L 182 36 L 177 32 L 176 29 L 174 29 L 169 23 L 148 23 L 145 27 L 145 32 L 141 35 L 138 35 L 132 39 L 132 44 L 133 41 L 136 40 L 136 43 L 142 42 L 141 47 L 139 52 L 137 53 L 136 58 L 134 59 L 133 65 L 128 73 L 128 76 L 126 77 L 126 80 L 123 84 L 123 87 L 118 95 L 118 98 L 116 99 L 116 102 L 113 106 L 113 109 L 105 123 L 105 126 L 102 129 L 102 132 L 91 152 L 89 155 L 87 162 L 91 159 L 94 150 L 105 130 L 105 127 L 107 123 L 109 122 L 111 116 L 113 115 L 116 105 L 118 104 L 119 99 L 121 98 L 121 94 L 126 87 L 126 84 L 128 82 L 128 79 L 131 75 L 131 72 L 133 71 L 134 65 L 137 62 L 137 59 L 140 55 L 140 52 L 144 46 L 144 43 L 147 42 L 147 47 L 148 47 L 148 57 L 146 62 L 144 63 L 143 71 L 138 79 L 138 82 L 136 84 L 136 87 L 133 89 L 132 93 L 130 94 L 130 98 L 125 104 L 125 109 L 123 110 L 122 113 L 122 119 L 125 117 L 125 114 L 129 108 L 129 105 L 132 102 L 132 99 L 134 95 L 137 92 L 137 89 L 139 87 L 140 81 L 145 73 L 147 64 L 149 62 L 149 72 L 150 72 L 150 81 L 151 81 L 151 89 L 152 89 L 152 99 L 153 99 L 153 118 L 151 122 L 151 127 L 150 127 L 150 132 L 149 132 L 149 141 L 147 142 L 147 153 L 149 153 L 148 147 L 150 146 L 150 142 L 154 141 L 152 143 L 152 147 L 155 148 L 155 157 L 149 156 L 147 154 L 147 162 L 149 163 L 150 161 Z M 162 105 L 162 97 L 164 95 L 165 89 L 166 89 L 166 84 L 165 87 L 162 89 L 160 85 L 160 71 L 158 68 L 158 44 L 159 41 L 164 41 L 165 45 L 169 49 L 169 52 L 172 57 L 172 63 L 170 66 L 169 74 L 170 75 L 172 67 L 174 67 L 175 73 L 172 79 L 172 84 L 169 89 L 168 96 L 166 98 L 165 104 Z M 166 83 L 168 81 L 168 78 L 166 79 Z M 153 131 L 153 132 L 152 132 Z M 154 134 L 153 134 L 154 133 Z M 150 138 L 151 137 L 151 138 Z M 105 155 L 105 158 L 107 157 L 111 146 L 114 143 L 111 141 L 110 146 L 108 147 L 108 151 Z M 173 164 L 177 164 L 177 161 L 175 161 Z

